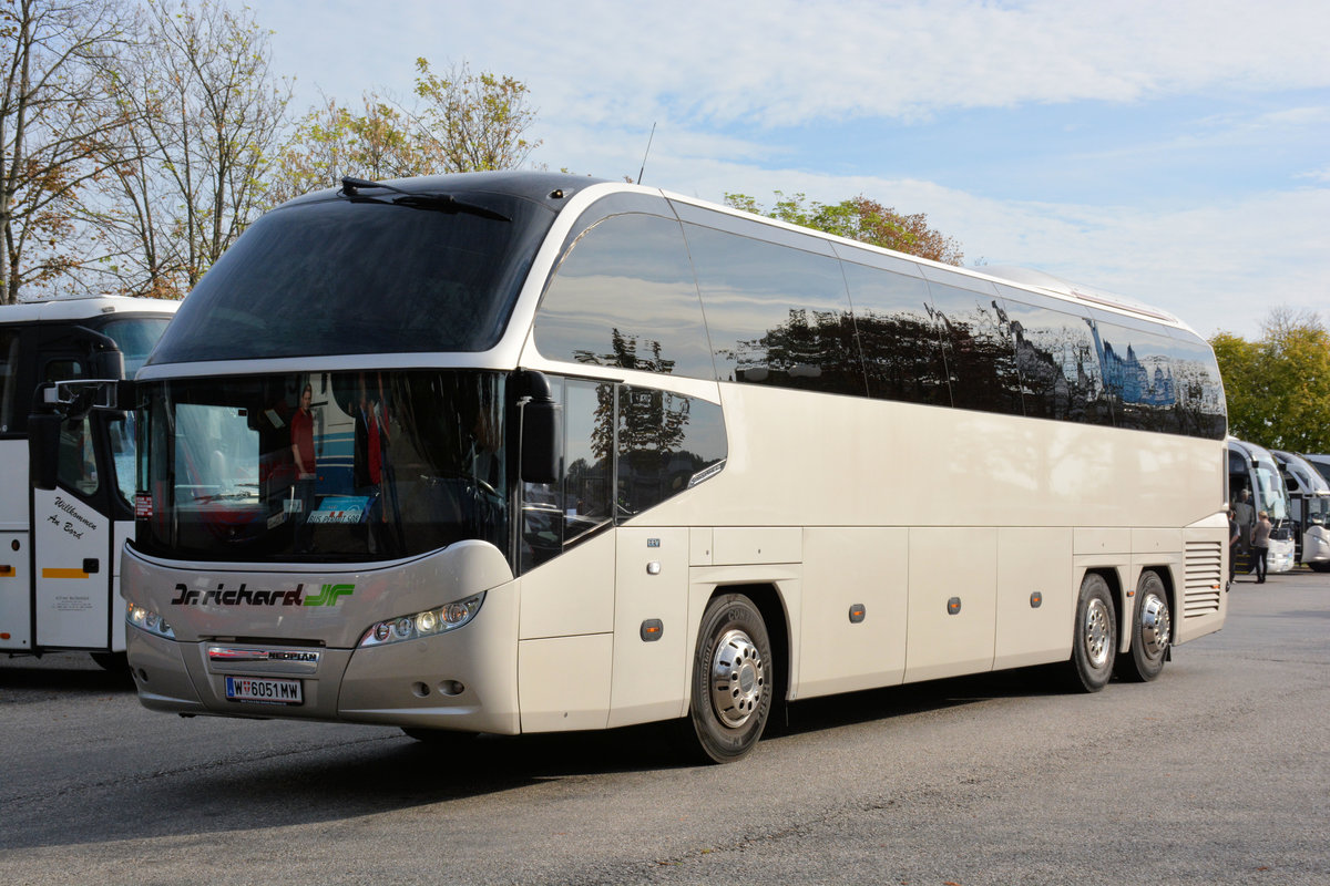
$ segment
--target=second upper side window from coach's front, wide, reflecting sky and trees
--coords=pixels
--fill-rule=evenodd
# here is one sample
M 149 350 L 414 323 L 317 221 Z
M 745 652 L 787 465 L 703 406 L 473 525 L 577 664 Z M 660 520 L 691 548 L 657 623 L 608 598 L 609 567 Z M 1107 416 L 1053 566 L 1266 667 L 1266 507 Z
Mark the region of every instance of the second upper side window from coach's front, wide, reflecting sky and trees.
M 684 232 L 721 380 L 866 395 L 839 262 L 696 224 Z

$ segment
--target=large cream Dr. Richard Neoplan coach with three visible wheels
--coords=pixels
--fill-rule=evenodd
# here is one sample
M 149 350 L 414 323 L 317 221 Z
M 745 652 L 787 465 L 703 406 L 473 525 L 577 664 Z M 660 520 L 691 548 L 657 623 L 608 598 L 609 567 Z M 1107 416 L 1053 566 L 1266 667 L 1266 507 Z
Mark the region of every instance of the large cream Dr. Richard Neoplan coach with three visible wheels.
M 786 700 L 1055 662 L 1095 691 L 1224 624 L 1224 395 L 1184 324 L 634 185 L 293 201 L 136 388 L 157 711 L 678 720 L 728 761 Z

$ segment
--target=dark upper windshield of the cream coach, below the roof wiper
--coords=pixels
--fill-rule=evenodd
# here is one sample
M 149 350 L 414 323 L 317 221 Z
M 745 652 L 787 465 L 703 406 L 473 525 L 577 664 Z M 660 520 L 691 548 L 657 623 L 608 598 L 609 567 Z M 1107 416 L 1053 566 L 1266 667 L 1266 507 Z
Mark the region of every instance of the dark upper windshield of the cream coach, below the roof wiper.
M 269 213 L 189 294 L 152 363 L 493 347 L 553 213 L 458 197 L 491 211 L 338 197 Z

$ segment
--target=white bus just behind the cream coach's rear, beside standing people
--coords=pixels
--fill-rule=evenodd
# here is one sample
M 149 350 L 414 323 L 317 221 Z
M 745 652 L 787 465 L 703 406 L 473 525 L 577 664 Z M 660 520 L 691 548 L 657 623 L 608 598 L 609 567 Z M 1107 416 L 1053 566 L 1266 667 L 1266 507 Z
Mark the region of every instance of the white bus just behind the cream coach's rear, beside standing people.
M 1229 437 L 1229 503 L 1233 506 L 1241 535 L 1238 571 L 1256 570 L 1252 555 L 1252 527 L 1262 510 L 1274 526 L 1266 553 L 1267 571 L 1271 574 L 1293 571 L 1295 563 L 1293 505 L 1283 476 L 1267 449 L 1236 437 Z

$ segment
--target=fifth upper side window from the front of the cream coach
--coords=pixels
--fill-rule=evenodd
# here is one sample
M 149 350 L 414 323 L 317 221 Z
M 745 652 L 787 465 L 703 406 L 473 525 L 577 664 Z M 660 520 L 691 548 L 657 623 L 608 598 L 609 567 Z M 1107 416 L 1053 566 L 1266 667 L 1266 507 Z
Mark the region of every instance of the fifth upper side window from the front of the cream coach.
M 1025 414 L 1112 425 L 1095 341 L 1085 319 L 1003 299 L 1016 348 Z

